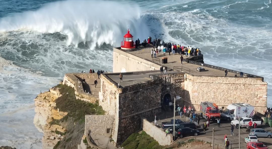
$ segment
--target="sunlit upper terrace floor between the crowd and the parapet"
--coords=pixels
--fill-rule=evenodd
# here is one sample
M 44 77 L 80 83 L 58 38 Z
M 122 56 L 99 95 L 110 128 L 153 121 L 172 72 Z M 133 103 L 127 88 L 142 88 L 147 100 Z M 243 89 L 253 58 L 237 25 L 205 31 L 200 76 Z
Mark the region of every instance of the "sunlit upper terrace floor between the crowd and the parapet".
M 152 61 L 152 57 L 151 57 L 151 50 L 153 48 L 146 48 L 143 50 L 139 50 L 139 51 L 134 51 L 134 52 L 128 52 L 130 54 L 133 54 L 135 56 L 141 57 L 142 59 L 148 59 L 150 61 Z M 159 56 L 156 56 L 157 58 L 160 59 L 160 63 L 157 63 L 158 61 L 154 61 L 153 63 L 156 63 L 158 65 L 163 65 L 163 66 L 167 66 L 168 68 L 173 69 L 174 66 L 182 66 L 185 67 L 183 69 L 184 72 L 189 73 L 188 69 L 190 69 L 190 73 L 192 75 L 196 75 L 196 76 L 225 76 L 225 72 L 221 71 L 221 70 L 217 70 L 217 69 L 212 69 L 212 68 L 208 68 L 208 67 L 203 67 L 203 66 L 199 66 L 199 65 L 195 65 L 195 64 L 190 64 L 190 63 L 186 63 L 183 62 L 183 64 L 181 65 L 181 61 L 180 61 L 180 55 L 178 54 L 169 54 L 165 53 L 165 56 L 163 56 L 162 53 L 159 53 Z M 168 57 L 168 63 L 167 64 L 162 64 L 162 57 Z M 183 55 L 183 58 L 186 59 L 188 57 Z M 203 67 L 205 68 L 205 72 L 198 72 L 196 71 L 197 67 Z M 235 73 L 228 73 L 227 76 L 234 76 L 236 75 Z M 237 75 L 239 76 L 239 75 Z

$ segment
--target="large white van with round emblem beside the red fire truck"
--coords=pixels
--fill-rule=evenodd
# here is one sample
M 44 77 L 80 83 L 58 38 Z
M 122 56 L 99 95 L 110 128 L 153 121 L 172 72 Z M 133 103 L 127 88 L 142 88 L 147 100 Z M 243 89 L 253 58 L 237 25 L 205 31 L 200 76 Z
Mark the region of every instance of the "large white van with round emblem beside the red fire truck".
M 239 116 L 254 116 L 254 106 L 248 103 L 233 103 L 221 113 L 220 118 L 227 121 L 238 119 Z

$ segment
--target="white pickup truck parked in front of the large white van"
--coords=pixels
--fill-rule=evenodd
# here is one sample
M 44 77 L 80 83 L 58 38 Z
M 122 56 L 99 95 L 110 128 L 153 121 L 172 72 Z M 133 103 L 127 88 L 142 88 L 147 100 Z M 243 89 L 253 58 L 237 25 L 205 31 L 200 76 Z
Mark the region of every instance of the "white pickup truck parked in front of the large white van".
M 252 118 L 252 117 L 241 117 L 240 118 L 240 127 L 248 127 L 249 126 L 249 121 L 251 120 L 252 122 L 252 126 L 254 126 L 254 122 L 259 126 L 261 125 L 261 120 L 256 119 L 256 118 Z M 233 120 L 230 123 L 231 125 L 234 125 L 234 127 L 236 127 L 237 129 L 239 128 L 239 120 Z

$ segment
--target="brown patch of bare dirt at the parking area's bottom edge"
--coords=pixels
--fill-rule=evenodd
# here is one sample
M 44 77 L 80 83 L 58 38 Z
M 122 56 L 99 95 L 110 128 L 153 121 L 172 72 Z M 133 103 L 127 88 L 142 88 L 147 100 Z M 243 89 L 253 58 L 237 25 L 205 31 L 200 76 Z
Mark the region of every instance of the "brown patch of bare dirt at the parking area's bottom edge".
M 185 148 L 190 148 L 190 149 L 203 149 L 203 148 L 212 148 L 210 146 L 210 144 L 207 144 L 206 142 L 204 142 L 204 144 L 202 145 L 202 142 L 190 142 L 188 144 L 182 144 L 180 147 L 178 148 L 174 148 L 174 149 L 185 149 Z M 225 147 L 222 146 L 218 146 L 218 149 L 224 149 Z M 214 146 L 214 149 L 217 149 L 217 144 Z

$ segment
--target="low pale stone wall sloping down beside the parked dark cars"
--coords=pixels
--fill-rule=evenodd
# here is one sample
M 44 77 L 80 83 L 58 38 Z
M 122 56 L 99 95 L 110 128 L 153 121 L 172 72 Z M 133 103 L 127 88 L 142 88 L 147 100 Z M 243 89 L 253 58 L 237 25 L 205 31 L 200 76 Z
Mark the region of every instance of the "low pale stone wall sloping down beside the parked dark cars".
M 173 135 L 168 134 L 166 136 L 165 131 L 150 123 L 144 118 L 141 118 L 142 128 L 147 134 L 153 137 L 160 145 L 170 145 L 173 142 Z

